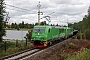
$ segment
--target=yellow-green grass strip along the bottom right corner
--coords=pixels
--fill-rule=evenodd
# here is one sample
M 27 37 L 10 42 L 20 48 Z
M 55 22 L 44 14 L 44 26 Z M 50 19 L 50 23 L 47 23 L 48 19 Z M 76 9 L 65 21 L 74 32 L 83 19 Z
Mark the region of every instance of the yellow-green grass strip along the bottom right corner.
M 50 60 L 50 59 L 48 59 Z M 55 56 L 53 60 L 90 60 L 90 49 L 75 53 L 63 53 L 62 56 Z

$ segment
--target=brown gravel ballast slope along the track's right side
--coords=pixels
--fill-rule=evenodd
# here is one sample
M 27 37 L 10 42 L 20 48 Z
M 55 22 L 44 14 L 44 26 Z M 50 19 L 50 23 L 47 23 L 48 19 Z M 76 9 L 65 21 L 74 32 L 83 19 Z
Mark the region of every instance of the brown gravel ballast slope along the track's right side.
M 53 49 L 55 47 L 62 46 L 64 43 L 67 44 L 71 40 L 72 39 L 69 38 L 69 39 L 66 39 L 65 41 L 57 42 L 56 44 L 53 44 L 52 46 L 49 46 L 48 48 L 45 48 L 45 49 L 43 49 L 41 51 L 38 51 L 38 52 L 36 52 L 36 53 L 34 53 L 34 54 L 30 55 L 30 56 L 26 56 L 26 57 L 24 57 L 24 58 L 22 58 L 20 60 L 39 60 L 38 58 L 45 57 L 44 54 L 46 54 L 46 55 L 50 54 L 49 52 L 53 51 Z M 52 53 L 53 52 L 51 52 L 51 54 Z M 43 58 L 40 59 L 40 60 L 43 60 Z

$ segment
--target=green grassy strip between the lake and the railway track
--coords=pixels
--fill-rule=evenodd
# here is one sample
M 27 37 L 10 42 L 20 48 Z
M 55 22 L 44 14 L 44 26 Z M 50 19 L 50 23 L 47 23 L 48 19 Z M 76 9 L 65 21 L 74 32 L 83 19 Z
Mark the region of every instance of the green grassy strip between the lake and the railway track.
M 31 48 L 30 42 L 28 42 L 28 45 L 26 46 L 25 41 L 18 41 L 18 45 L 16 47 L 16 42 L 6 42 L 6 51 L 5 51 L 5 46 L 4 42 L 0 43 L 0 57 L 10 55 L 25 49 Z

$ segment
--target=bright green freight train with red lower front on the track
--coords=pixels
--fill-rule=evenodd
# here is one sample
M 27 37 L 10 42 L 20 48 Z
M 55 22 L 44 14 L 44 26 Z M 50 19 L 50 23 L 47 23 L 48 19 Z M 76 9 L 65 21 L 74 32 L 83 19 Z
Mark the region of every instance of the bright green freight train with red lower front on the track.
M 34 26 L 31 43 L 36 48 L 47 47 L 56 41 L 62 41 L 78 31 L 68 27 L 59 26 Z

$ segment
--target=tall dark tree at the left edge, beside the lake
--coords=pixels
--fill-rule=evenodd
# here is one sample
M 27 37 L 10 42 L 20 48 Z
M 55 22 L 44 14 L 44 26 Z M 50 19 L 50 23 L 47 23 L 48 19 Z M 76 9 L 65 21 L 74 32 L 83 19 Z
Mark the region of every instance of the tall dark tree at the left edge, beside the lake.
M 5 30 L 3 28 L 4 14 L 5 13 L 4 0 L 0 0 L 0 42 L 2 41 L 2 36 L 5 35 Z

